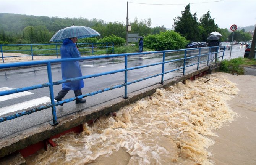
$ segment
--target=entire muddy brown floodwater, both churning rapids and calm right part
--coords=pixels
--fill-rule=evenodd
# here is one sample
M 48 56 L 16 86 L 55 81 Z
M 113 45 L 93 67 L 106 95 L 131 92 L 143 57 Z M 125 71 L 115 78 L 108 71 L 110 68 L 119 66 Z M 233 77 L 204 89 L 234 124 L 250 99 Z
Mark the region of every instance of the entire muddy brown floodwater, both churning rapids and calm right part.
M 83 133 L 53 139 L 57 147 L 26 160 L 29 165 L 256 164 L 255 82 L 255 76 L 218 72 L 177 83 L 123 107 L 116 117 L 84 124 Z

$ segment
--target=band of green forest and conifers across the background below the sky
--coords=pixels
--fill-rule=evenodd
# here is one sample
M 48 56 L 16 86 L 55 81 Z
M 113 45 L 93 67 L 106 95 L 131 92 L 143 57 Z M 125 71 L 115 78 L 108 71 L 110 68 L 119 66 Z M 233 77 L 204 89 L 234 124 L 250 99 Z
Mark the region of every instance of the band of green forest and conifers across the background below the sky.
M 100 19 L 86 18 L 58 18 L 47 16 L 28 16 L 21 14 L 0 13 L 0 44 L 28 44 L 28 43 L 50 43 L 50 38 L 60 29 L 72 26 L 87 26 L 96 30 L 104 37 L 126 38 L 126 25 L 121 22 L 104 22 Z M 139 21 L 137 18 L 131 25 L 131 33 L 139 33 L 140 36 L 157 35 L 161 32 L 169 31 L 164 26 L 151 26 L 151 19 Z M 185 37 L 186 40 L 207 41 L 207 35 L 211 32 L 220 32 L 223 37 L 222 41 L 231 41 L 232 33 L 228 29 L 221 29 L 215 24 L 214 18 L 208 11 L 200 17 L 197 14 L 191 14 L 190 4 L 185 6 L 185 10 L 181 11 L 181 16 L 174 19 L 173 28 L 175 32 Z M 248 27 L 247 27 L 248 28 Z M 175 35 L 175 33 L 168 33 Z M 151 37 L 152 38 L 152 37 Z M 234 40 L 248 41 L 251 34 L 245 29 L 236 30 Z M 95 41 L 95 40 L 94 40 Z

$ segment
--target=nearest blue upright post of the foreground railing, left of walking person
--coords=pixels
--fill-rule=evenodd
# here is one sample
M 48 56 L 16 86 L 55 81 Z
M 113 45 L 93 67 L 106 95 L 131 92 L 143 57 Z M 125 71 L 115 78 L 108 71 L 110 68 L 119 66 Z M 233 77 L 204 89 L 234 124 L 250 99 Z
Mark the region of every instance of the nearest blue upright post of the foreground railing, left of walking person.
M 52 118 L 53 122 L 50 122 L 51 125 L 57 125 L 57 115 L 56 115 L 56 107 L 55 107 L 55 101 L 54 101 L 54 93 L 53 93 L 53 83 L 52 83 L 52 70 L 51 70 L 51 63 L 47 63 L 47 74 L 48 74 L 48 80 L 50 83 L 49 89 L 50 89 L 50 98 L 51 98 L 51 104 L 52 104 Z

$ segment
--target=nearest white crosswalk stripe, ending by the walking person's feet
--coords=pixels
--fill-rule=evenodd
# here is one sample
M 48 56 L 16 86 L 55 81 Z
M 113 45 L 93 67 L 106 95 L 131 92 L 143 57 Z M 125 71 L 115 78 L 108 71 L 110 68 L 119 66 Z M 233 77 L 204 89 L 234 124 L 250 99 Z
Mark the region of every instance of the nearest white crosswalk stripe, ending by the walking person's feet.
M 40 104 L 50 103 L 51 99 L 49 97 L 37 98 L 29 101 L 25 101 L 23 103 L 14 104 L 11 106 L 6 106 L 0 108 L 0 115 L 7 114 L 10 112 L 19 111 L 22 109 L 28 109 L 30 107 L 38 106 Z

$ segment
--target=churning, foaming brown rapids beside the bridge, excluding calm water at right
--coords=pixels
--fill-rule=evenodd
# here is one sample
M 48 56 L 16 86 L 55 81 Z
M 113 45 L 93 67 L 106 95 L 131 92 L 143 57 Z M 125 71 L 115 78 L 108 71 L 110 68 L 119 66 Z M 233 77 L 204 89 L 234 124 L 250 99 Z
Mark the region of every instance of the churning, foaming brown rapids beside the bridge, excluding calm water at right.
M 58 146 L 49 147 L 30 164 L 213 164 L 207 148 L 214 144 L 214 130 L 237 115 L 226 104 L 237 91 L 222 75 L 158 89 L 116 116 L 84 124 L 79 135 L 53 139 Z

